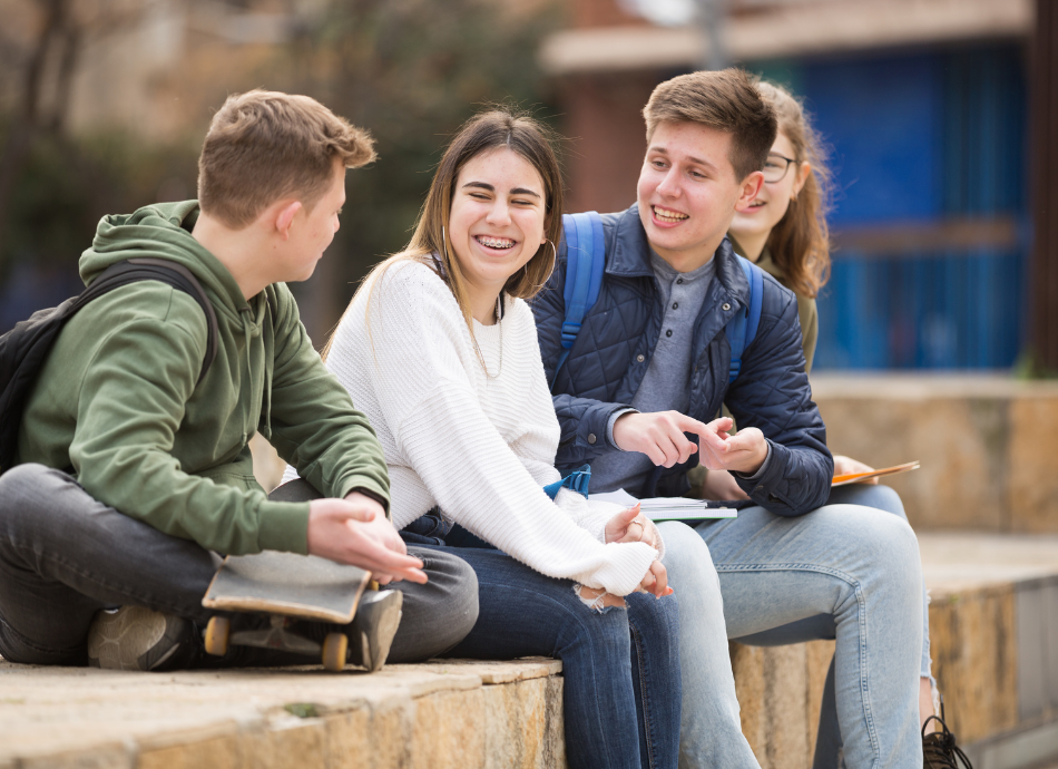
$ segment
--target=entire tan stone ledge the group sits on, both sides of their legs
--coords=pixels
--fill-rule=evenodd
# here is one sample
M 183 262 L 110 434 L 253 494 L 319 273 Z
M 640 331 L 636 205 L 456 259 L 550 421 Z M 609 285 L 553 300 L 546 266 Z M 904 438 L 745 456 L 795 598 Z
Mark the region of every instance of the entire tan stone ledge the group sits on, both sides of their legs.
M 976 756 L 1030 739 L 1045 750 L 1039 736 L 1058 724 L 1058 536 L 925 533 L 919 544 L 934 674 L 960 743 Z M 811 766 L 833 649 L 732 644 L 762 769 Z M 0 662 L 0 769 L 564 767 L 560 670 L 443 660 L 373 675 L 144 675 Z

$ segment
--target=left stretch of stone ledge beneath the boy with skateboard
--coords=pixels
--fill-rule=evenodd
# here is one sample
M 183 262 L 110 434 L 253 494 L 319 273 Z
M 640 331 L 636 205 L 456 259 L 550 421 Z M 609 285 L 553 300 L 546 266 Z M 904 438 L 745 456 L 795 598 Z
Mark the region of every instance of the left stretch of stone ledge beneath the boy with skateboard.
M 561 767 L 561 663 L 144 675 L 0 662 L 0 769 Z

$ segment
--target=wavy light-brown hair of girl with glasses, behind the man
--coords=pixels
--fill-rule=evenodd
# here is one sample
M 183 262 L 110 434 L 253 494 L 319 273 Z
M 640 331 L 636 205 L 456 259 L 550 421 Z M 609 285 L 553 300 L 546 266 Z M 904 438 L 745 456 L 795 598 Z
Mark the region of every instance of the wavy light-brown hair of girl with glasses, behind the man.
M 797 165 L 807 160 L 812 173 L 797 197 L 767 237 L 772 259 L 794 293 L 814 298 L 830 279 L 831 174 L 819 134 L 804 107 L 788 91 L 771 82 L 757 88 L 778 118 L 778 130 L 790 139 Z

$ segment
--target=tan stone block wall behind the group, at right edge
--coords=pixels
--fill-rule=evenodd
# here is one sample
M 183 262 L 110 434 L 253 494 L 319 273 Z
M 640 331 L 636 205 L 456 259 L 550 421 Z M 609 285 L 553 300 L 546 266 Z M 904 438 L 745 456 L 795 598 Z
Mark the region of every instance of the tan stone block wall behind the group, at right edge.
M 874 467 L 917 529 L 1058 533 L 1058 382 L 991 376 L 812 377 L 826 442 Z

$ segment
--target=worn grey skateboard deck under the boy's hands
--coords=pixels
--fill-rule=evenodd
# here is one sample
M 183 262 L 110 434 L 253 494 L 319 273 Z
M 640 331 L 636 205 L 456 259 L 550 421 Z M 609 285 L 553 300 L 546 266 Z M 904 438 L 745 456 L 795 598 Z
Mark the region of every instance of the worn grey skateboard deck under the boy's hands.
M 225 612 L 351 622 L 371 573 L 314 555 L 266 551 L 229 555 L 202 601 Z

